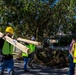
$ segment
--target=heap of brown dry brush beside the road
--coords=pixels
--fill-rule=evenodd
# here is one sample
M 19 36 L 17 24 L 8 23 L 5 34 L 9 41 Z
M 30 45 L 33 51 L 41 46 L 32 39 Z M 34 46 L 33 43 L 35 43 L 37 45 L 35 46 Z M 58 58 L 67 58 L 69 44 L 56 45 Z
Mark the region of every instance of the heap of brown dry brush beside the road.
M 42 64 L 49 67 L 66 67 L 69 65 L 68 51 L 43 49 L 38 50 L 37 60 L 42 61 Z M 41 64 L 41 62 L 40 62 Z

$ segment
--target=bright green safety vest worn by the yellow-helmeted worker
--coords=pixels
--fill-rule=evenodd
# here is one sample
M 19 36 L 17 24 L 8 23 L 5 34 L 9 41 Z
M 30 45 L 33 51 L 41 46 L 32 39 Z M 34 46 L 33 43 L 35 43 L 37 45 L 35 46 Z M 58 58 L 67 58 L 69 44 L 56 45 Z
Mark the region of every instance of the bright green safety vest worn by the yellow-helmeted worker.
M 13 45 L 9 44 L 7 41 L 4 41 L 2 53 L 4 55 L 12 54 L 13 53 Z

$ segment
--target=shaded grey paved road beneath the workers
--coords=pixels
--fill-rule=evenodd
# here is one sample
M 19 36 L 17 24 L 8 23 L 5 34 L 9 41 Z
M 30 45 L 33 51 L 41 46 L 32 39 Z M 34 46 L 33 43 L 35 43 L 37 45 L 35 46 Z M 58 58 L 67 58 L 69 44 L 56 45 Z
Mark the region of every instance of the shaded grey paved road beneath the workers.
M 62 69 L 55 69 L 55 68 L 48 68 L 41 65 L 34 65 L 34 69 L 29 69 L 28 73 L 25 73 L 23 71 L 23 62 L 19 62 L 15 60 L 15 72 L 16 75 L 67 75 L 68 74 L 68 68 L 62 68 Z M 8 75 L 5 71 L 4 75 Z

